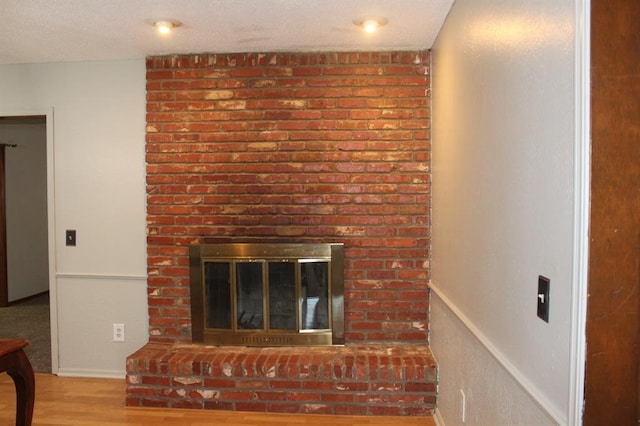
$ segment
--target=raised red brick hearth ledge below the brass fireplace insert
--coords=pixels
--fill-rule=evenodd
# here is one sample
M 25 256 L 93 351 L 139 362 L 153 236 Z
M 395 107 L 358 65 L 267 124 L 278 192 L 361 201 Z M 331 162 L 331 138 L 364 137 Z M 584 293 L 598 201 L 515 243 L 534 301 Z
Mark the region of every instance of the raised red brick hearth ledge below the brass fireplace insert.
M 426 346 L 247 348 L 149 343 L 127 360 L 127 405 L 280 413 L 431 415 Z

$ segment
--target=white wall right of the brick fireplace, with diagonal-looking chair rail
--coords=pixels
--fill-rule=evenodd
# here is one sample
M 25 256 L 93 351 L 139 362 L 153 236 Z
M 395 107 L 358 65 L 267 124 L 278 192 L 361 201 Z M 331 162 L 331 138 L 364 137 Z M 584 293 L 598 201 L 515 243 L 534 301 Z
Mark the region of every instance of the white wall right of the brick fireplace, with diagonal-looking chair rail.
M 461 390 L 466 425 L 573 418 L 579 1 L 457 0 L 433 48 L 431 345 L 447 426 L 462 424 Z

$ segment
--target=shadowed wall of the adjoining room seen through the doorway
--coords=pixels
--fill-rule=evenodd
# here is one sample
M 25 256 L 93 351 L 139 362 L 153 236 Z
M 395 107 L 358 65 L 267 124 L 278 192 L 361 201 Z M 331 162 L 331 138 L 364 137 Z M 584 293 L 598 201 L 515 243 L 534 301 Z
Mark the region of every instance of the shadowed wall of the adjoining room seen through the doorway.
M 49 290 L 45 119 L 0 121 L 5 148 L 9 301 Z

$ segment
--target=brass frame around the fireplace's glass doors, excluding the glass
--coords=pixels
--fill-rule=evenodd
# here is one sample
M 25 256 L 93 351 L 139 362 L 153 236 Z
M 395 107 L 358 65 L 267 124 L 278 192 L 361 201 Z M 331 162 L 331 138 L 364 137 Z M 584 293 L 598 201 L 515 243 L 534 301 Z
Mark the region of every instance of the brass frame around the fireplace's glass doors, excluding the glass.
M 233 262 L 310 262 L 329 265 L 329 329 L 303 330 L 300 327 L 301 296 L 296 286 L 297 329 L 239 330 L 207 328 L 205 322 L 205 263 Z M 189 247 L 192 342 L 208 345 L 241 346 L 326 346 L 344 344 L 344 244 L 342 243 L 227 243 L 199 244 Z M 297 278 L 298 279 L 298 278 Z M 233 281 L 234 278 L 231 278 Z M 234 287 L 230 282 L 231 288 Z M 230 291 L 231 306 L 233 291 Z M 268 304 L 268 298 L 265 298 Z M 268 309 L 265 312 L 269 312 Z M 232 315 L 233 317 L 233 315 Z

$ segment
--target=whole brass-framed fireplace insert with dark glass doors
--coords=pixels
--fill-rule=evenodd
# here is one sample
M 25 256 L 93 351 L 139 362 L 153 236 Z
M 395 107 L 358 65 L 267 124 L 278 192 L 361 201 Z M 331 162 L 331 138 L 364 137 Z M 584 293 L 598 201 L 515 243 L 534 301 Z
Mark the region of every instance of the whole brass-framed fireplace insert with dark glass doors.
M 192 342 L 344 344 L 344 245 L 230 243 L 189 248 Z

